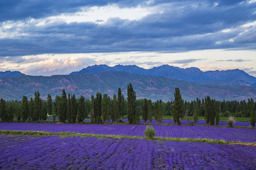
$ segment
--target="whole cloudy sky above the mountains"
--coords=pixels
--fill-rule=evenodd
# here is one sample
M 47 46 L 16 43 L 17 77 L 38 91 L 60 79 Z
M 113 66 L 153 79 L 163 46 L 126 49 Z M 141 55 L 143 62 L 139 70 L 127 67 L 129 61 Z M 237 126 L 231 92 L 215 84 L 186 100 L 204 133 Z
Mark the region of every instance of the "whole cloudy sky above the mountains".
M 256 76 L 256 0 L 0 0 L 0 71 L 95 64 Z

